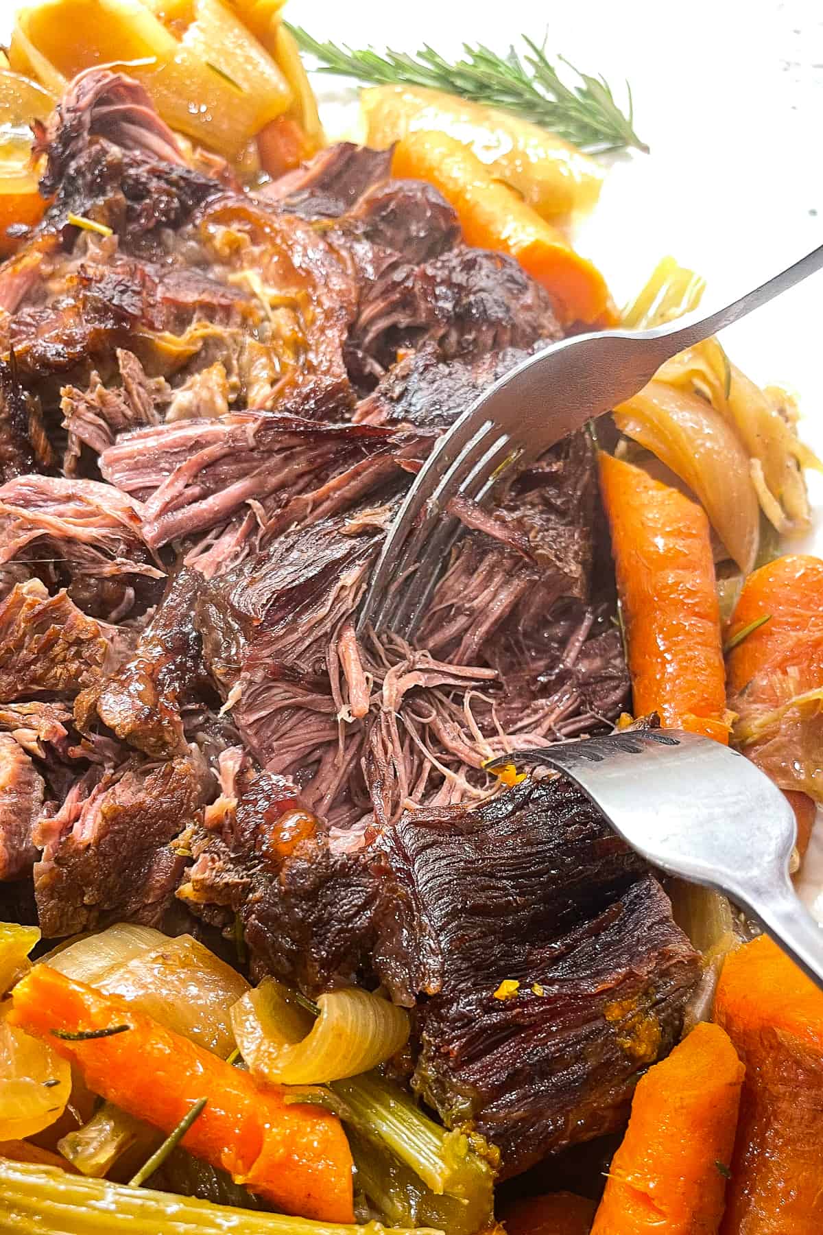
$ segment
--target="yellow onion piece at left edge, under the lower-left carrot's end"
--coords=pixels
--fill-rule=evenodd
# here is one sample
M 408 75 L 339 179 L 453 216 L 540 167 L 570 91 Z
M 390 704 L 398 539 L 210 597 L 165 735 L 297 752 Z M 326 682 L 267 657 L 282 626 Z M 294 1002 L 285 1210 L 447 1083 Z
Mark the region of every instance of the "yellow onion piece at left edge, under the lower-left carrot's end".
M 70 1093 L 68 1060 L 0 1018 L 0 1141 L 48 1128 L 65 1110 Z

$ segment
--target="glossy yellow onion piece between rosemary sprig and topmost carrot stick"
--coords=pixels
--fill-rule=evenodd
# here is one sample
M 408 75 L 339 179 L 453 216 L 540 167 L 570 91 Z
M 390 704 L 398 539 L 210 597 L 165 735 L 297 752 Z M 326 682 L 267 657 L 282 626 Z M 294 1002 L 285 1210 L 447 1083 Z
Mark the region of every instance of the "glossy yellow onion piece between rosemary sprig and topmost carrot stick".
M 363 90 L 368 143 L 385 148 L 411 132 L 442 132 L 469 146 L 492 175 L 511 184 L 544 219 L 591 210 L 603 169 L 563 138 L 496 107 L 429 90 L 380 85 Z

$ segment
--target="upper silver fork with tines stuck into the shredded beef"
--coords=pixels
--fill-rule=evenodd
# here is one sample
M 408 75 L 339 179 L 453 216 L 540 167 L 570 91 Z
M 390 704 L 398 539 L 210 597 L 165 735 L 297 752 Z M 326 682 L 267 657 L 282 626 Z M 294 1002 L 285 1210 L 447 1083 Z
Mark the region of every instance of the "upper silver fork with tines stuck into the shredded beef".
M 408 638 L 460 531 L 447 514 L 482 500 L 516 462 L 528 462 L 586 421 L 637 394 L 664 361 L 760 308 L 823 266 L 823 246 L 739 300 L 654 330 L 577 335 L 543 348 L 491 385 L 443 435 L 418 472 L 373 572 L 358 629 Z

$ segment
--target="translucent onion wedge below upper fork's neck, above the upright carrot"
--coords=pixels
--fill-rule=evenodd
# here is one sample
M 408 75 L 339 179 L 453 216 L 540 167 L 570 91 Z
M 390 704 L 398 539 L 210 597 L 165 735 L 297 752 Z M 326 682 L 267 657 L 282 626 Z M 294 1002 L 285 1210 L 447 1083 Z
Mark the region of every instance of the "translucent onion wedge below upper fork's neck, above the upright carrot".
M 748 573 L 758 553 L 758 495 L 749 457 L 723 414 L 700 395 L 655 379 L 614 409 L 614 422 L 692 489 L 727 552 Z

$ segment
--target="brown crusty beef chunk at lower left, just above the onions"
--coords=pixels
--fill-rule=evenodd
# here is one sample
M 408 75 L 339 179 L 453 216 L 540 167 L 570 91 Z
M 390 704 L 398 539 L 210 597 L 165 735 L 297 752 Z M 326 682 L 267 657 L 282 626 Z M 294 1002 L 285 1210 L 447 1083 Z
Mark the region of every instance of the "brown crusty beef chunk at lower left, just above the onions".
M 72 935 L 110 921 L 158 926 L 174 898 L 185 856 L 172 841 L 202 818 L 211 776 L 196 753 L 165 763 L 126 763 L 89 779 L 42 819 L 35 844 L 35 895 L 44 935 Z

